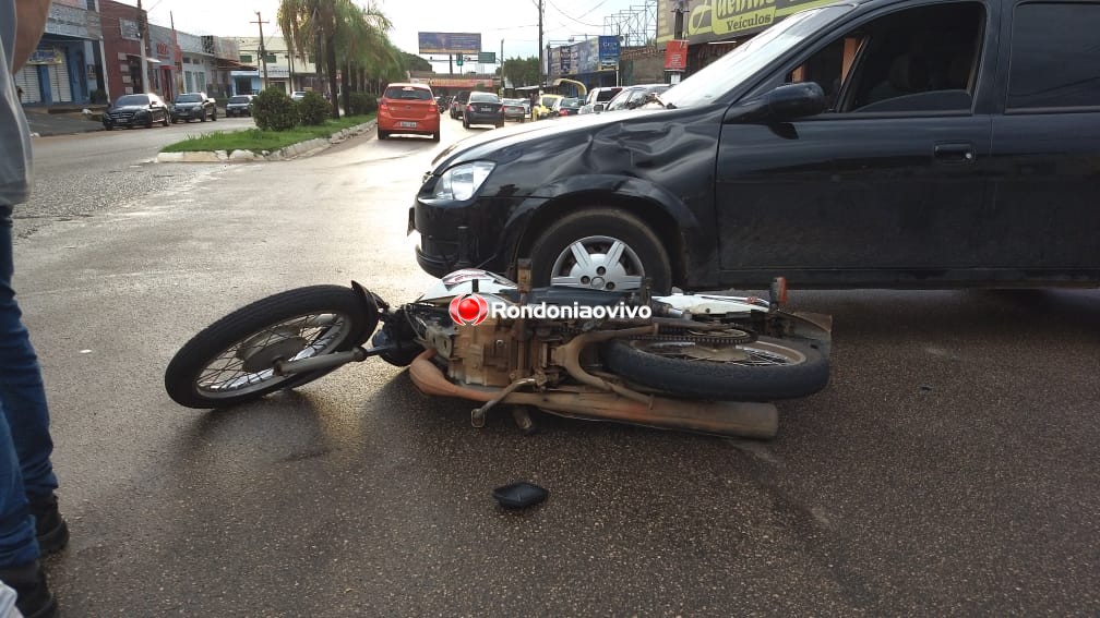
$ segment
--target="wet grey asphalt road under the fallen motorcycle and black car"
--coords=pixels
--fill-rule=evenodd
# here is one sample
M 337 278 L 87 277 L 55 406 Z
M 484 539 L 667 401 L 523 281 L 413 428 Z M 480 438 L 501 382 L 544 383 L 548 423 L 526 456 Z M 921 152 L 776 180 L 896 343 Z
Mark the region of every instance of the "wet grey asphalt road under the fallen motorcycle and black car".
M 50 140 L 116 136 L 38 140 L 40 173 Z M 405 225 L 440 146 L 371 136 L 234 166 L 128 147 L 92 169 L 152 180 L 16 222 L 73 529 L 47 562 L 66 616 L 1100 611 L 1096 290 L 795 291 L 834 314 L 833 378 L 780 405 L 770 442 L 476 430 L 469 404 L 377 360 L 189 410 L 164 366 L 228 311 L 352 278 L 406 301 L 431 282 Z M 35 203 L 66 201 L 61 185 L 40 177 Z M 549 500 L 499 510 L 490 492 L 516 479 Z

